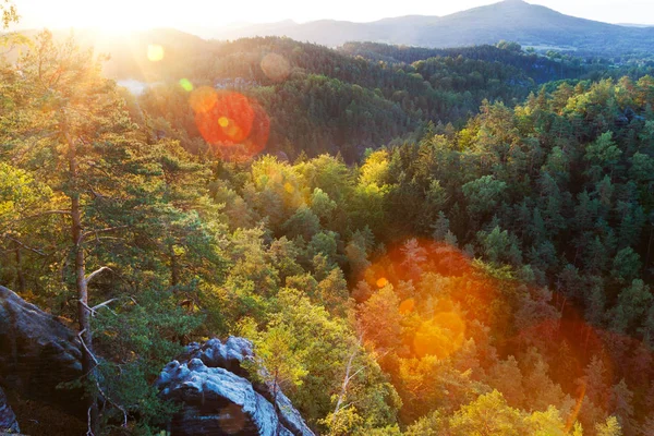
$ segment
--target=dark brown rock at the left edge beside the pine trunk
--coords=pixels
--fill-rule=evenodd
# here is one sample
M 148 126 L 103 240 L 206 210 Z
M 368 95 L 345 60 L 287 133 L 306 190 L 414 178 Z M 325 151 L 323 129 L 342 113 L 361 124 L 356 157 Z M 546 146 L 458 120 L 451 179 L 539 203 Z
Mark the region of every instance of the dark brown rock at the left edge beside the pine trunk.
M 57 389 L 82 374 L 77 344 L 52 315 L 0 287 L 0 385 L 80 413 L 81 392 Z

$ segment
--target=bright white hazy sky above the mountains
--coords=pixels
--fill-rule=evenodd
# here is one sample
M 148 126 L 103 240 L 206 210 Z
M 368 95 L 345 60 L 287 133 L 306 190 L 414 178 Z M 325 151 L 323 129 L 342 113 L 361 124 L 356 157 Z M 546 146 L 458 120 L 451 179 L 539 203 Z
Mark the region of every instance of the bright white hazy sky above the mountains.
M 375 21 L 409 14 L 446 15 L 497 0 L 13 0 L 21 27 L 209 27 L 292 19 Z M 531 0 L 559 12 L 609 23 L 654 24 L 654 0 Z

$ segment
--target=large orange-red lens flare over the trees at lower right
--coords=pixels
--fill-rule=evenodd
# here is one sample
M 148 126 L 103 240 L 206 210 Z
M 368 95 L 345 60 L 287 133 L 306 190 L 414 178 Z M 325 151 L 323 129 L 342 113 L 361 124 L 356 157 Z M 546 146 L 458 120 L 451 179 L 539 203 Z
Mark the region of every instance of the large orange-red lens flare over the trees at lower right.
M 389 244 L 355 274 L 352 295 L 360 303 L 364 344 L 379 353 L 385 371 L 403 380 L 427 379 L 421 378 L 423 363 L 449 360 L 476 374 L 517 356 L 524 377 L 545 380 L 545 373 L 552 389 L 569 396 L 566 402 L 573 400 L 554 404 L 549 388 L 529 393 L 542 410 L 549 403 L 565 411 L 567 431 L 593 411 L 610 414 L 619 380 L 643 392 L 651 386 L 643 370 L 654 361 L 650 346 L 589 323 L 570 296 L 577 289 L 558 293 L 531 286 L 456 246 L 420 239 Z M 375 299 L 382 295 L 386 304 Z M 392 336 L 401 340 L 386 340 Z

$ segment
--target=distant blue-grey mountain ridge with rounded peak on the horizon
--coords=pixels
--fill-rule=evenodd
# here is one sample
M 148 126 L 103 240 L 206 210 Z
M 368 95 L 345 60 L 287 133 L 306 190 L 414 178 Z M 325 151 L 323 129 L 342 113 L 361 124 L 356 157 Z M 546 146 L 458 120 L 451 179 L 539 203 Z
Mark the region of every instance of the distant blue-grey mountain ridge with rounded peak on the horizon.
M 448 48 L 505 39 L 542 50 L 654 53 L 654 27 L 579 19 L 522 0 L 505 0 L 446 16 L 408 15 L 372 23 L 284 21 L 221 28 L 203 36 L 216 39 L 287 36 L 329 47 L 348 41 L 374 41 Z

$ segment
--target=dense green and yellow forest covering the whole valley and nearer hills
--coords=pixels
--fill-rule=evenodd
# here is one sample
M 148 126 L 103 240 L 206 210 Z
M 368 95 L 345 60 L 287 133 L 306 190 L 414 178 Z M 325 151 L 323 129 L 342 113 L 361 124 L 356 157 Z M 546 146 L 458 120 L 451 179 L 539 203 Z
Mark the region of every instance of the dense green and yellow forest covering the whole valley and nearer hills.
M 317 434 L 654 434 L 646 63 L 181 53 L 137 96 L 49 33 L 0 63 L 0 284 L 80 332 L 96 434 L 160 434 L 229 335 Z

